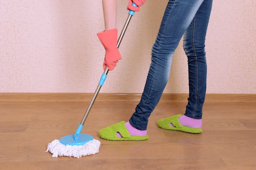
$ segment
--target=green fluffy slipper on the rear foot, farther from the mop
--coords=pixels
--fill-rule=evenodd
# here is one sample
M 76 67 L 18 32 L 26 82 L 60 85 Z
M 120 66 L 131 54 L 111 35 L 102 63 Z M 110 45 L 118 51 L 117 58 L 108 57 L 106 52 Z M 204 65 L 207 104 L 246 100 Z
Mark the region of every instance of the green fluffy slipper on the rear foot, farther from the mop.
M 160 119 L 157 121 L 157 126 L 162 128 L 162 129 L 167 129 L 167 130 L 179 130 L 182 132 L 187 132 L 187 133 L 202 133 L 201 128 L 193 128 L 193 127 L 188 127 L 188 126 L 183 126 L 179 122 L 179 117 L 182 116 L 181 114 L 178 114 L 176 116 L 171 116 L 166 119 Z M 172 123 L 172 126 L 170 126 L 170 123 Z

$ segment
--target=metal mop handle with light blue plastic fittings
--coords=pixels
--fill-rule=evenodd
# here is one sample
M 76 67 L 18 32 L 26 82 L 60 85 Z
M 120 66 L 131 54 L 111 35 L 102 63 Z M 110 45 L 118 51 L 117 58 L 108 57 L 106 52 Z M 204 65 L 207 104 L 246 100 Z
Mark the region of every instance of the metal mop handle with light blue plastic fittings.
M 132 6 L 136 6 L 136 4 L 135 3 L 132 3 Z M 120 36 L 119 36 L 119 39 L 118 39 L 118 41 L 117 41 L 117 45 L 116 45 L 116 47 L 117 48 L 119 48 L 119 45 L 120 45 L 120 43 L 121 43 L 121 41 L 122 41 L 122 38 L 124 37 L 124 35 L 125 35 L 125 31 L 126 31 L 126 29 L 127 29 L 127 27 L 128 27 L 128 25 L 129 25 L 129 23 L 130 23 L 130 20 L 131 20 L 131 17 L 134 15 L 134 11 L 129 11 L 128 12 L 128 18 L 127 18 L 127 20 L 126 20 L 126 23 L 125 23 L 125 26 L 124 26 L 124 28 L 122 29 L 122 32 L 121 32 L 121 34 L 120 34 Z M 93 95 L 93 98 L 91 99 L 91 101 L 90 101 L 90 104 L 89 104 L 89 106 L 88 106 L 88 108 L 87 108 L 87 110 L 86 110 L 86 112 L 84 113 L 84 117 L 83 117 L 83 119 L 82 119 L 82 121 L 81 121 L 81 123 L 80 123 L 80 125 L 84 125 L 84 122 L 85 122 L 85 120 L 87 119 L 87 116 L 88 116 L 88 114 L 89 114 L 89 112 L 90 112 L 90 110 L 91 110 L 91 108 L 92 108 L 92 106 L 93 106 L 93 103 L 94 103 L 94 101 L 95 101 L 95 99 L 96 99 L 96 97 L 97 97 L 97 95 L 99 94 L 99 91 L 100 91 L 100 88 L 102 87 L 102 85 L 104 84 L 104 82 L 105 82 L 105 79 L 107 78 L 107 75 L 108 75 L 108 67 L 106 67 L 105 68 L 105 70 L 104 70 L 104 73 L 102 74 L 102 76 L 101 76 L 101 78 L 100 78 L 100 81 L 99 81 L 99 85 L 98 85 L 98 87 L 97 87 L 97 89 L 96 89 L 96 91 L 95 91 L 95 93 L 94 93 L 94 95 Z M 82 128 L 82 126 L 80 126 L 80 130 L 81 130 L 81 128 Z M 78 129 L 78 134 L 80 133 L 79 130 Z

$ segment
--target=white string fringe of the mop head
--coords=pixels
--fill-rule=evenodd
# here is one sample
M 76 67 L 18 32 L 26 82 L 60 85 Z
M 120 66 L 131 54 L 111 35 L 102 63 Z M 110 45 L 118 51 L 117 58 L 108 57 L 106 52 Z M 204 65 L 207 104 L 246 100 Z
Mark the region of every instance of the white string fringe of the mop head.
M 96 139 L 80 146 L 64 145 L 59 140 L 55 139 L 48 144 L 45 152 L 52 153 L 52 157 L 68 156 L 80 158 L 81 156 L 93 155 L 99 152 L 100 142 Z

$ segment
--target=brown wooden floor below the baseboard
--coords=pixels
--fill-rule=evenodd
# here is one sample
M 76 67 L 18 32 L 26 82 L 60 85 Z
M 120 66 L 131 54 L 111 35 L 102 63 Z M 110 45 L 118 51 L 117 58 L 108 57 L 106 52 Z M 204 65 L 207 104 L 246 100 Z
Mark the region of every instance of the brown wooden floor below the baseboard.
M 160 102 L 149 140 L 111 142 L 97 132 L 127 121 L 137 102 L 95 102 L 82 133 L 102 143 L 80 159 L 52 158 L 47 144 L 75 133 L 88 102 L 0 102 L 0 170 L 256 170 L 256 103 L 208 102 L 203 133 L 163 130 L 158 119 L 183 114 L 186 102 Z

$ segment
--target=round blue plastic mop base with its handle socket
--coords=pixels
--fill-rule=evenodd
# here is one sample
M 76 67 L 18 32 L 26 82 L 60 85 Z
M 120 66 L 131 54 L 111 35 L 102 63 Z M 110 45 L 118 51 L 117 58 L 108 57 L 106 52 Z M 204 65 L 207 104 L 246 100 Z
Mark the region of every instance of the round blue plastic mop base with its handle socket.
M 79 146 L 79 145 L 84 145 L 89 141 L 92 141 L 93 136 L 87 135 L 87 134 L 80 134 L 82 128 L 83 128 L 83 125 L 79 125 L 75 134 L 63 136 L 60 139 L 60 142 L 64 145 Z

